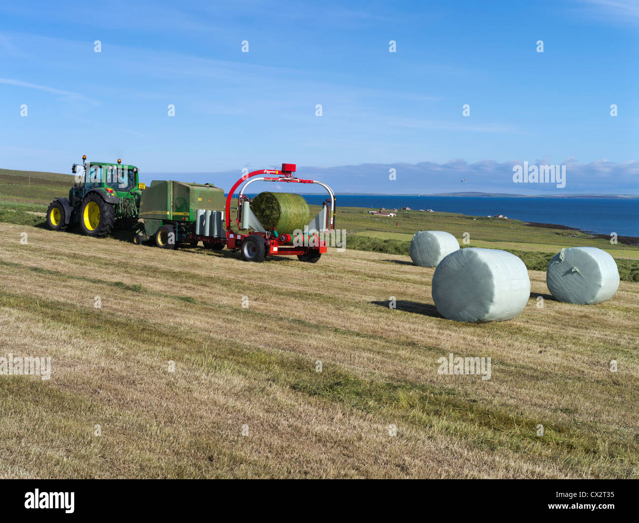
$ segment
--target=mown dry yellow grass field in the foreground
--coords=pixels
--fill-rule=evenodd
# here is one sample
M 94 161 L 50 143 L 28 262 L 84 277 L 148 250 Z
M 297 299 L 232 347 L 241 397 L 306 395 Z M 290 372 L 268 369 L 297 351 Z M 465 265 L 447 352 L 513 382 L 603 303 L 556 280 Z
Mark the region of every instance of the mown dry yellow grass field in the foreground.
M 0 240 L 0 356 L 52 359 L 50 380 L 0 376 L 1 477 L 639 475 L 639 284 L 576 306 L 532 271 L 543 309 L 458 324 L 403 256 Z M 492 378 L 438 375 L 449 352 Z

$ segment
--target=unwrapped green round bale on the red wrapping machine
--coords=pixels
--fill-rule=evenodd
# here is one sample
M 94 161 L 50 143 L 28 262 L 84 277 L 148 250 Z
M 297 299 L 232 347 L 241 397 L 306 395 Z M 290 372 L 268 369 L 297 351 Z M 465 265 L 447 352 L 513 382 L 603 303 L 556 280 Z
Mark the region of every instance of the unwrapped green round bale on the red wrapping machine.
M 260 192 L 250 203 L 250 209 L 265 229 L 280 234 L 304 230 L 309 224 L 309 206 L 299 194 Z

